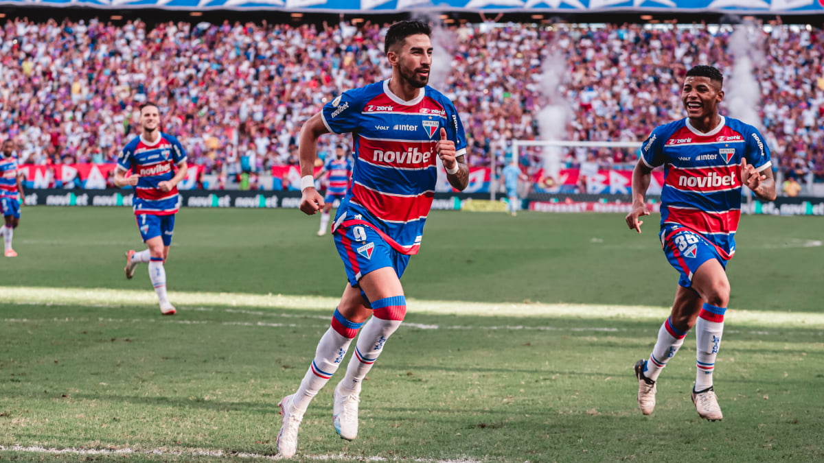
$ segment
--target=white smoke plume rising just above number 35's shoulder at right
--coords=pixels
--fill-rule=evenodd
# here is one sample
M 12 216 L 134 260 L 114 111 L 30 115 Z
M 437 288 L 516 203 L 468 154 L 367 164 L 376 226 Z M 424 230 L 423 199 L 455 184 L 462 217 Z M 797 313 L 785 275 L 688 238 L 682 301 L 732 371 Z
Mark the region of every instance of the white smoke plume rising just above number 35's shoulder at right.
M 755 71 L 765 66 L 763 39 L 752 21 L 735 26 L 727 51 L 734 58 L 733 73 L 724 87 L 729 115 L 761 129 L 758 108 L 761 103 L 761 86 Z

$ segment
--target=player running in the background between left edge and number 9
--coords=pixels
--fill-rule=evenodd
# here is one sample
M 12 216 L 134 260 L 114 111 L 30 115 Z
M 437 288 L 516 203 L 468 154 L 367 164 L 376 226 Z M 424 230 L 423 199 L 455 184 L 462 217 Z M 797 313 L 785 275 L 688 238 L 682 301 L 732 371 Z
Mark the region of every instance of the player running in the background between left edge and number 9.
M 154 103 L 140 105 L 140 127 L 143 133 L 120 152 L 115 185 L 134 187 L 134 215 L 147 249 L 127 251 L 124 271 L 126 278 L 132 278 L 137 264 L 148 262 L 161 313 L 175 315 L 175 306 L 166 296 L 163 263 L 169 257 L 175 214 L 180 208 L 177 184 L 186 176 L 186 152 L 177 138 L 160 131 L 160 110 Z M 125 176 L 129 171 L 132 174 Z

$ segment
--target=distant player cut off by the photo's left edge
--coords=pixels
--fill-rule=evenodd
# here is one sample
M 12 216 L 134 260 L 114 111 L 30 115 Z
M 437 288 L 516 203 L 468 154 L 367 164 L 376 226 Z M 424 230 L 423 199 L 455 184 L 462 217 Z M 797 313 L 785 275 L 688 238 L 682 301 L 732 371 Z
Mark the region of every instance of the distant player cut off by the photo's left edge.
M 0 227 L 6 257 L 17 257 L 12 249 L 14 229 L 20 225 L 20 205 L 26 200 L 23 194 L 22 172 L 17 169 L 17 157 L 14 154 L 14 142 L 8 139 L 2 143 L 0 157 L 0 211 L 3 226 Z

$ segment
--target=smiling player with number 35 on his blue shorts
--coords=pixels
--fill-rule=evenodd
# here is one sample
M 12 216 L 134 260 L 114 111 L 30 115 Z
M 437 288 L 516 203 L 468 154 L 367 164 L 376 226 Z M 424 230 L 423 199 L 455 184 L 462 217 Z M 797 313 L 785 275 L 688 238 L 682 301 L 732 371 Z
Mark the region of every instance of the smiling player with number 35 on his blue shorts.
M 711 66 L 686 73 L 681 102 L 686 119 L 657 127 L 644 142 L 632 173 L 631 230 L 648 215 L 644 194 L 656 166 L 664 166 L 660 238 L 667 260 L 680 274 L 669 318 L 658 330 L 648 360 L 635 363 L 638 405 L 655 408 L 656 381 L 695 326 L 696 375 L 692 401 L 701 418 L 722 419 L 713 388 L 715 357 L 729 302 L 727 261 L 735 252 L 741 187 L 765 201 L 775 199 L 770 151 L 755 127 L 719 115 L 723 76 Z

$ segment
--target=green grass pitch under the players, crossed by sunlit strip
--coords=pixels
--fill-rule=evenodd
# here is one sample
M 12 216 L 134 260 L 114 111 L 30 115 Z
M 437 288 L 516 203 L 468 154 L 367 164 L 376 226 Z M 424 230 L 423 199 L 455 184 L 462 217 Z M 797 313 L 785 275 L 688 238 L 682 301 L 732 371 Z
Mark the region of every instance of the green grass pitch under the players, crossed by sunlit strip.
M 128 208 L 24 208 L 0 258 L 0 459 L 270 461 L 344 288 L 319 217 L 184 209 L 162 317 Z M 370 372 L 360 436 L 310 406 L 294 461 L 820 461 L 824 247 L 816 217 L 745 216 L 715 373 L 722 422 L 689 391 L 695 337 L 640 414 L 677 284 L 616 214 L 435 212 L 403 278 L 409 313 Z

